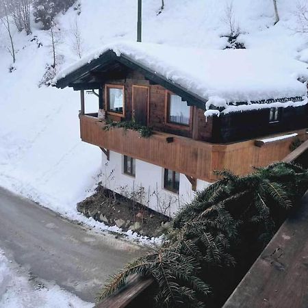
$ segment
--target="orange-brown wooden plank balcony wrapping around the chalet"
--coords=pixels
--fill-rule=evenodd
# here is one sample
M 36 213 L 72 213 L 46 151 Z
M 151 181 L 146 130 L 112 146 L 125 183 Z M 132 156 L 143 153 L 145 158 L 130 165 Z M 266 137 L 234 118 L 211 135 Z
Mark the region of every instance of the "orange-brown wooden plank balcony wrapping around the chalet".
M 209 182 L 216 180 L 213 170 L 228 169 L 237 175 L 246 175 L 254 166 L 267 166 L 286 157 L 295 138 L 308 139 L 305 129 L 288 132 L 297 133 L 296 137 L 264 144 L 255 139 L 211 144 L 156 131 L 150 138 L 140 138 L 136 131 L 118 128 L 105 131 L 105 122 L 94 116 L 80 115 L 79 118 L 84 142 Z

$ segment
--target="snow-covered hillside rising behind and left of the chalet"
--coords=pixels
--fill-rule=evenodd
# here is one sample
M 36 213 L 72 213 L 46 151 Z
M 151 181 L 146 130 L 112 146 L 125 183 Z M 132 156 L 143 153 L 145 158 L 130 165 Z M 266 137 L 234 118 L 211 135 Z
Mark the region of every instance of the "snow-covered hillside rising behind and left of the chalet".
M 307 3 L 307 1 L 302 1 Z M 57 16 L 61 29 L 58 70 L 78 57 L 72 49 L 77 20 L 83 50 L 91 52 L 114 40 L 136 40 L 136 0 L 81 0 L 81 14 L 71 8 Z M 143 40 L 159 44 L 224 49 L 230 33 L 224 0 L 143 1 Z M 248 49 L 266 49 L 308 62 L 308 34 L 299 33 L 296 1 L 279 0 L 281 21 L 274 25 L 272 0 L 234 0 L 233 19 Z M 32 23 L 33 34 L 14 30 L 18 53 L 12 73 L 5 29 L 0 30 L 0 185 L 28 196 L 70 218 L 75 205 L 97 181 L 101 150 L 79 139 L 79 93 L 38 88 L 51 64 L 47 31 Z M 36 40 L 31 41 L 35 36 Z M 38 42 L 42 47 L 38 48 Z M 224 76 L 221 76 L 222 81 Z

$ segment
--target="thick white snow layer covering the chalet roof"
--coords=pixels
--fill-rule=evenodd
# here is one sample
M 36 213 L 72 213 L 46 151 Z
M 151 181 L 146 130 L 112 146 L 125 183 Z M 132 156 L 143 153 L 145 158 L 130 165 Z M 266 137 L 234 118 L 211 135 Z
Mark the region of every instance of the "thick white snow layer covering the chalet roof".
M 283 53 L 264 49 L 191 49 L 143 42 L 107 44 L 62 70 L 53 82 L 90 64 L 108 50 L 118 57 L 125 55 L 208 100 L 207 109 L 227 108 L 235 102 L 249 104 L 307 95 L 306 85 L 298 79 L 308 79 L 308 65 Z

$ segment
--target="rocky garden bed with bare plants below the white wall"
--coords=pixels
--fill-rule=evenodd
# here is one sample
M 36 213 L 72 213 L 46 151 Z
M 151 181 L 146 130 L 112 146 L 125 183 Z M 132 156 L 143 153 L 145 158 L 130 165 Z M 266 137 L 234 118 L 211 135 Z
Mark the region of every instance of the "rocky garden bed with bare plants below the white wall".
M 170 221 L 167 216 L 101 185 L 98 185 L 95 194 L 77 204 L 77 210 L 109 226 L 116 225 L 123 231 L 131 230 L 149 237 L 161 235 Z

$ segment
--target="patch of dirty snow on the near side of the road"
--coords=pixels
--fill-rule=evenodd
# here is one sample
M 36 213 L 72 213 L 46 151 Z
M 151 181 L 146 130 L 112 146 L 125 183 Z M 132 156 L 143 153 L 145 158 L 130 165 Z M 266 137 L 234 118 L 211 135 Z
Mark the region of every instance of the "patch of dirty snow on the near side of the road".
M 0 307 L 87 308 L 93 307 L 58 285 L 31 277 L 27 270 L 9 261 L 0 249 Z

